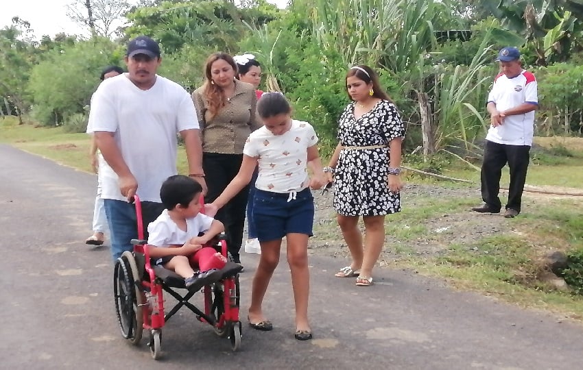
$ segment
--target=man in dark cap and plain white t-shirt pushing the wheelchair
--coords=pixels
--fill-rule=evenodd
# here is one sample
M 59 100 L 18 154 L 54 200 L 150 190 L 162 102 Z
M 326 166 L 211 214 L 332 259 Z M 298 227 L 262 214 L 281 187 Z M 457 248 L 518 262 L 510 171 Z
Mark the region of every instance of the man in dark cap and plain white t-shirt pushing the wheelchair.
M 142 200 L 144 230 L 164 209 L 160 186 L 177 173 L 177 134 L 185 141 L 190 176 L 206 191 L 194 104 L 182 86 L 156 75 L 158 43 L 147 36 L 130 40 L 125 60 L 128 73 L 97 88 L 88 123 L 112 170 L 103 174 L 102 198 L 114 260 L 132 250 L 130 240 L 138 236 L 134 195 Z

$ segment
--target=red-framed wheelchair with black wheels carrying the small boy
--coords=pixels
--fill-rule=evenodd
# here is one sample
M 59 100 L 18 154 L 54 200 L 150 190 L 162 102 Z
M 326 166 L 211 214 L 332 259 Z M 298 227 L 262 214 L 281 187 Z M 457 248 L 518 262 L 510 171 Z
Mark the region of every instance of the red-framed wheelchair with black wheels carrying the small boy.
M 198 321 L 208 323 L 222 338 L 229 338 L 233 351 L 241 347 L 241 321 L 239 321 L 239 274 L 202 287 L 204 308 L 189 302 L 198 291 L 185 295 L 174 288 L 185 289 L 185 280 L 162 266 L 150 262 L 147 240 L 144 240 L 142 212 L 139 197 L 135 196 L 138 221 L 138 239 L 132 240 L 133 251 L 125 251 L 115 262 L 113 274 L 115 310 L 121 335 L 132 345 L 139 345 L 143 331 L 150 335 L 148 347 L 154 360 L 162 356 L 162 328 L 180 308 L 187 307 Z M 216 243 L 215 243 L 216 241 Z M 222 236 L 211 245 L 227 257 L 227 245 Z M 167 313 L 163 291 L 178 303 Z

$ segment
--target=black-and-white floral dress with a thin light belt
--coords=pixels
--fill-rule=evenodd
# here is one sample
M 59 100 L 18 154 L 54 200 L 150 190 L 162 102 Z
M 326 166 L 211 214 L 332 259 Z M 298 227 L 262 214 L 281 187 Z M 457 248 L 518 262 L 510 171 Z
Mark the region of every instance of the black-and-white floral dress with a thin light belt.
M 358 119 L 350 103 L 338 121 L 344 147 L 386 145 L 377 149 L 342 149 L 336 166 L 334 209 L 344 216 L 380 216 L 401 210 L 401 198 L 388 186 L 390 140 L 405 136 L 396 106 L 381 100 Z

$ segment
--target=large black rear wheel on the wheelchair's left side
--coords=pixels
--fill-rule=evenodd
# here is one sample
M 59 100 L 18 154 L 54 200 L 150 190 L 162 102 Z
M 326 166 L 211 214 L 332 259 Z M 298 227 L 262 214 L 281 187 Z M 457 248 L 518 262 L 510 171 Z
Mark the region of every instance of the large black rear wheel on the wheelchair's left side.
M 135 264 L 135 263 L 134 263 Z M 115 262 L 113 291 L 117 321 L 123 338 L 136 345 L 142 336 L 141 292 L 136 288 L 127 256 Z

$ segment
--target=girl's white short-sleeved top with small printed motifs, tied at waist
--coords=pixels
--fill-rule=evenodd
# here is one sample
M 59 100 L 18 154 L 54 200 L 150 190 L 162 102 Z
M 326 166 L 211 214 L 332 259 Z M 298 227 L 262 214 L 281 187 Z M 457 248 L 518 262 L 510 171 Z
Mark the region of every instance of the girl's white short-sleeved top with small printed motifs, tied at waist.
M 274 135 L 265 126 L 249 135 L 243 154 L 259 158 L 259 175 L 255 186 L 273 193 L 289 193 L 309 186 L 307 149 L 318 143 L 313 127 L 292 120 L 283 135 Z

